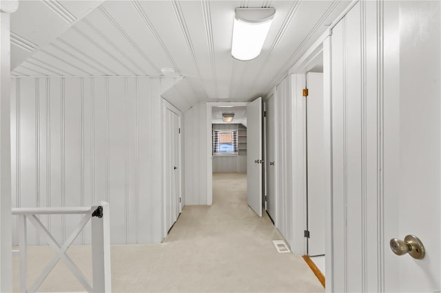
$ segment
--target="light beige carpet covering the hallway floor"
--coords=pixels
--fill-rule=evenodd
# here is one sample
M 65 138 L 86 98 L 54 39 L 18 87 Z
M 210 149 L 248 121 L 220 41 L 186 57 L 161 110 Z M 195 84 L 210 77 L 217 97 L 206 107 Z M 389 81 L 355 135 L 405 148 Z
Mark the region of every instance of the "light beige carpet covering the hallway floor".
M 185 206 L 161 244 L 112 246 L 113 292 L 324 292 L 301 257 L 278 253 L 272 240 L 283 239 L 265 214 L 247 206 L 246 175 L 215 173 L 213 205 Z M 69 255 L 91 276 L 89 246 Z M 52 252 L 29 248 L 30 279 Z M 14 291 L 18 291 L 14 257 Z M 59 263 L 41 292 L 84 291 Z

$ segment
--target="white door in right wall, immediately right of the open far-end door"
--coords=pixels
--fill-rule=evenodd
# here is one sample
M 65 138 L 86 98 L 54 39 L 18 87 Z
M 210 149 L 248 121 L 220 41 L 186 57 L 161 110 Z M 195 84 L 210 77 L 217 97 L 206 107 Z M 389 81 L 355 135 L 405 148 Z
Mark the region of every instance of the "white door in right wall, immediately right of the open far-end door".
M 276 105 L 274 96 L 265 103 L 265 175 L 267 177 L 266 210 L 273 221 L 276 221 Z

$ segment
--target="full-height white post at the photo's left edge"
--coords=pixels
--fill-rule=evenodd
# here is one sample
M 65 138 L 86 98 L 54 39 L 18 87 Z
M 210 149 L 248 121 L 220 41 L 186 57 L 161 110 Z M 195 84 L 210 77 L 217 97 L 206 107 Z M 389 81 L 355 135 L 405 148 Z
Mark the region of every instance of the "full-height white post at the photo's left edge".
M 10 13 L 18 0 L 0 1 L 0 292 L 12 292 Z

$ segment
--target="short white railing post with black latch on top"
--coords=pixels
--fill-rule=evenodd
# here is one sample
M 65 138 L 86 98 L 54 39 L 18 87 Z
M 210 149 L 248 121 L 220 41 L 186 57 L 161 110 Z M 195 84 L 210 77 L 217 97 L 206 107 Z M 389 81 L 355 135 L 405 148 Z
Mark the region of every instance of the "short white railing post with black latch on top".
M 102 217 L 99 217 L 100 206 Z M 93 290 L 94 292 L 112 292 L 109 204 L 100 202 L 94 210 L 91 219 Z

